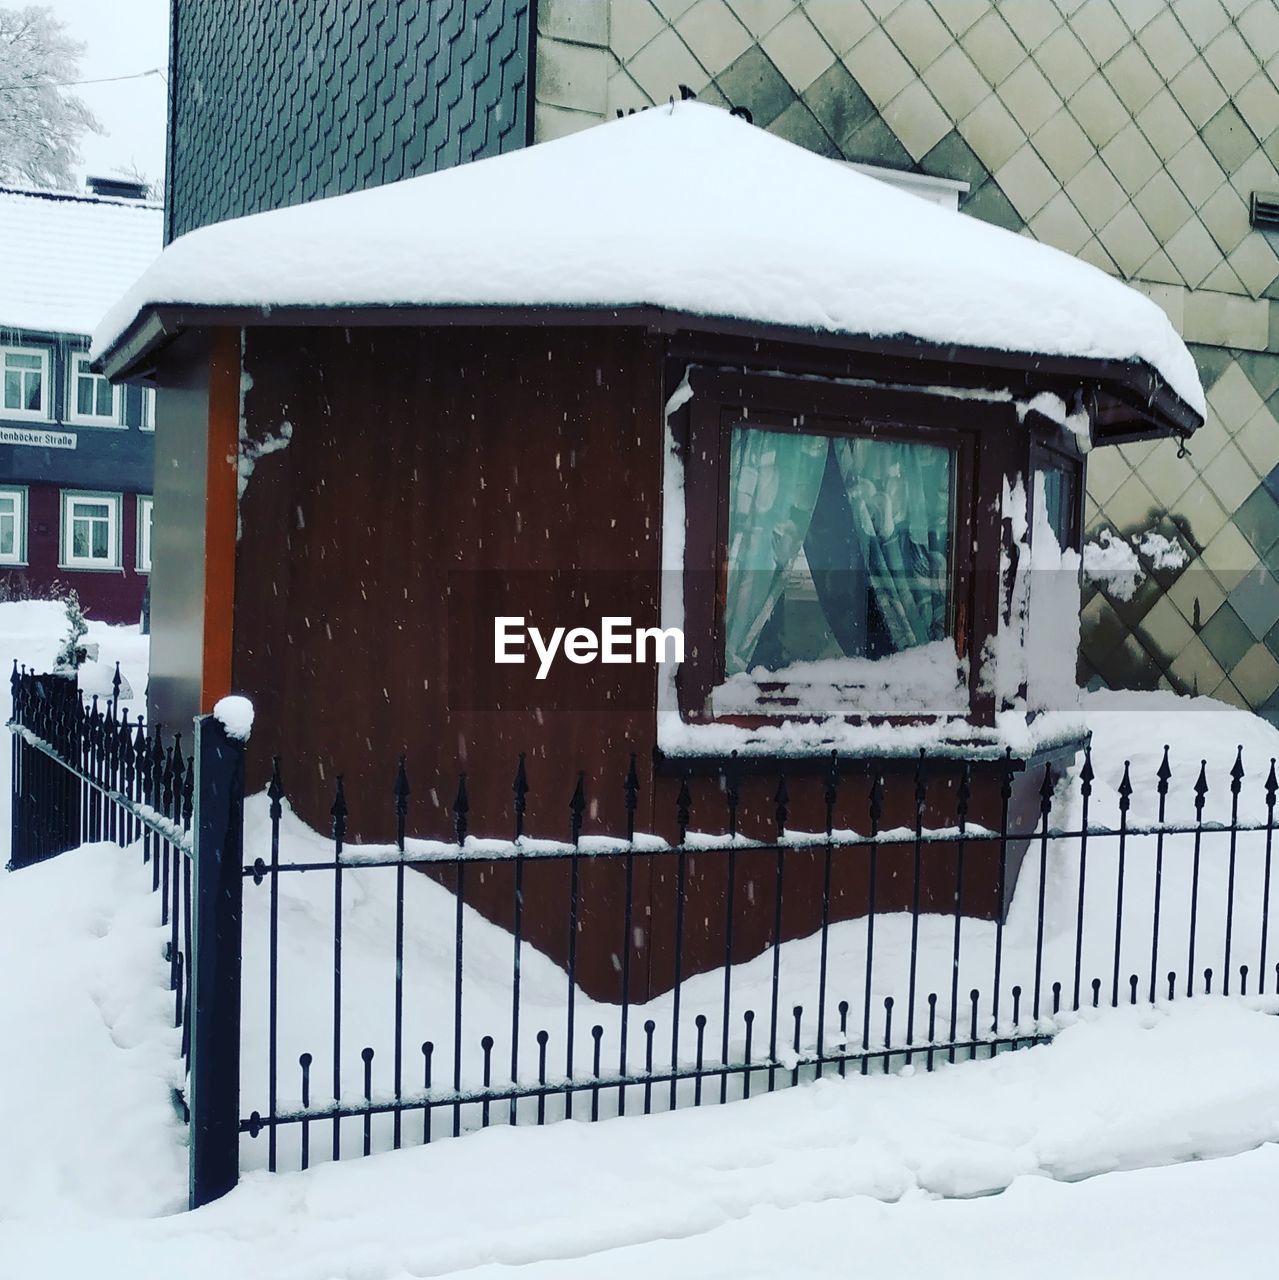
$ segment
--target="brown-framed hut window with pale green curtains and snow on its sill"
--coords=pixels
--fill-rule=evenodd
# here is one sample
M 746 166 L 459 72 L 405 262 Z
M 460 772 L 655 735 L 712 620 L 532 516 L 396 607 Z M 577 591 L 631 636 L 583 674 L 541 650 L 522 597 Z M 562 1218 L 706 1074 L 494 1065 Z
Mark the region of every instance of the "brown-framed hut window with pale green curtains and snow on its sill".
M 977 443 L 1013 439 L 1013 411 L 709 369 L 690 385 L 667 494 L 685 522 L 684 721 L 985 717 L 972 659 L 1001 526 L 974 498 Z

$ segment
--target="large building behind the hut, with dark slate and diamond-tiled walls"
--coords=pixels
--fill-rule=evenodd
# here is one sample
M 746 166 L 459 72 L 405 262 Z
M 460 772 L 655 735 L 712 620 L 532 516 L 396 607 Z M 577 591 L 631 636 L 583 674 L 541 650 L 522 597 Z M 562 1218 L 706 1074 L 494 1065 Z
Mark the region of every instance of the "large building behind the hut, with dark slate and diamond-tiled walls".
M 239 23 L 175 0 L 172 47 L 170 236 L 686 86 L 832 160 L 945 179 L 965 214 L 1145 289 L 1210 416 L 1188 457 L 1091 468 L 1090 531 L 1157 550 L 1128 599 L 1092 589 L 1082 676 L 1279 714 L 1279 242 L 1265 198 L 1252 216 L 1279 193 L 1275 0 L 303 0 Z M 654 210 L 676 218 L 677 192 Z

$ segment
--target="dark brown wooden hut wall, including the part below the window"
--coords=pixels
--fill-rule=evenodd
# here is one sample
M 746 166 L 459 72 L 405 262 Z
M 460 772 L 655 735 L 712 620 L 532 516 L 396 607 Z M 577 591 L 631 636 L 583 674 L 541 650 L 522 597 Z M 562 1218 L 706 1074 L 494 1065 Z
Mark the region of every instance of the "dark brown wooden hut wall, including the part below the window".
M 408 756 L 408 831 L 448 837 L 458 774 L 467 773 L 470 831 L 508 836 L 511 781 L 527 753 L 526 829 L 568 835 L 576 771 L 586 833 L 625 829 L 622 777 L 638 754 L 636 826 L 675 835 L 677 774 L 654 776 L 652 666 L 580 666 L 552 677 L 495 667 L 495 613 L 542 626 L 629 614 L 657 625 L 661 564 L 663 339 L 627 329 L 248 330 L 245 399 L 250 442 L 291 443 L 262 454 L 241 502 L 234 582 L 233 684 L 257 709 L 250 783 L 279 753 L 301 817 L 329 827 L 343 773 L 352 840 L 394 833 L 396 758 Z M 996 488 L 997 492 L 997 488 Z M 850 765 L 842 826 L 865 828 L 865 768 Z M 913 822 L 913 764 L 891 771 L 886 827 Z M 954 820 L 958 772 L 937 777 L 927 824 Z M 723 829 L 713 777 L 693 780 L 694 829 Z M 772 831 L 777 774 L 741 781 L 741 829 Z M 1033 817 L 1022 776 L 1014 809 Z M 791 781 L 791 827 L 823 822 L 822 769 Z M 992 771 L 978 771 L 973 822 L 997 826 Z M 1023 828 L 1024 829 L 1024 828 Z M 1020 847 L 1009 861 L 1011 874 Z M 912 896 L 909 849 L 881 858 L 880 910 Z M 821 920 L 819 854 L 787 855 L 782 937 Z M 758 864 L 758 865 L 757 865 Z M 993 915 L 997 850 L 969 855 L 965 911 Z M 577 977 L 591 995 L 620 995 L 618 954 L 632 947 L 631 997 L 670 986 L 675 860 L 638 859 L 638 938 L 623 942 L 622 864 L 580 865 Z M 867 909 L 867 854 L 839 859 L 832 919 Z M 923 904 L 953 902 L 946 850 L 926 860 Z M 723 859 L 690 859 L 685 973 L 723 960 Z M 735 959 L 771 945 L 773 855 L 743 855 Z M 452 883 L 448 873 L 440 876 Z M 748 892 L 745 886 L 750 883 Z M 563 961 L 568 865 L 530 867 L 525 936 Z M 508 924 L 512 872 L 471 874 L 467 901 Z

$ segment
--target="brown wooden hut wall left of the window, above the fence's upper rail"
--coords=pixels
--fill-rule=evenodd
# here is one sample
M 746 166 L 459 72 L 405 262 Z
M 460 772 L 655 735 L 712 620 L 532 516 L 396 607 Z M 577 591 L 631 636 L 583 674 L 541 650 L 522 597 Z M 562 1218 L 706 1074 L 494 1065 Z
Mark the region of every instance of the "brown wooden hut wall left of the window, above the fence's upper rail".
M 620 787 L 606 804 L 597 783 L 652 746 L 653 669 L 561 660 L 539 682 L 534 666 L 493 666 L 492 620 L 527 605 L 543 626 L 657 622 L 653 340 L 251 330 L 246 370 L 250 438 L 293 433 L 241 504 L 234 684 L 257 703 L 251 781 L 279 750 L 291 797 L 324 828 L 342 771 L 352 833 L 385 840 L 403 750 L 416 833 L 449 835 L 465 769 L 472 831 L 507 835 L 526 751 L 530 829 L 567 835 L 577 768 L 599 820 L 620 820 Z

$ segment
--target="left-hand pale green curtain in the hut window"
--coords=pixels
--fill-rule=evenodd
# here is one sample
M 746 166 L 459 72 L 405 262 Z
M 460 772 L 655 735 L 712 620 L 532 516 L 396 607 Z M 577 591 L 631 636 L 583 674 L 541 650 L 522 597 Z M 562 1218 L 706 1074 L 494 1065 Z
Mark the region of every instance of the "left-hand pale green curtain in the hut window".
M 750 666 L 786 572 L 813 520 L 830 442 L 798 431 L 737 428 L 732 433 L 725 671 Z

